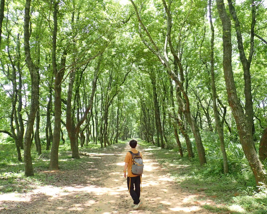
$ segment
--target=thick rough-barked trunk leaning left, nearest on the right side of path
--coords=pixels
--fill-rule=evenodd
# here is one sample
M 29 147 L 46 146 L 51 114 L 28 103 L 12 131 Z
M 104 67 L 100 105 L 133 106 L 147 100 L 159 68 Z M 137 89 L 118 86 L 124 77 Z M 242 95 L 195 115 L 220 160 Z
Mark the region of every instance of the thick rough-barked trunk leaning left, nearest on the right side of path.
M 244 154 L 251 167 L 257 185 L 260 182 L 267 184 L 266 171 L 263 169 L 262 163 L 255 151 L 251 127 L 247 124 L 242 106 L 237 96 L 236 86 L 233 78 L 232 70 L 232 44 L 231 44 L 231 21 L 226 13 L 223 0 L 217 0 L 217 10 L 222 23 L 222 44 L 223 44 L 223 72 L 225 78 L 225 86 L 228 96 L 228 103 L 231 107 L 233 116 L 236 121 L 236 127 L 239 133 L 240 143 Z

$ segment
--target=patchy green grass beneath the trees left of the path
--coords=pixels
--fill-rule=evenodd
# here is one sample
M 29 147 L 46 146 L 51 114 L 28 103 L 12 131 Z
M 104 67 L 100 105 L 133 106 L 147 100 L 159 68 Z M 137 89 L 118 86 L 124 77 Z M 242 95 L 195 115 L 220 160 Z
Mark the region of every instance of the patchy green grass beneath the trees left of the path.
M 124 147 L 125 142 L 119 142 L 120 147 Z M 123 144 L 123 145 L 122 145 Z M 60 172 L 75 171 L 81 168 L 89 168 L 90 165 L 96 165 L 94 162 L 99 162 L 99 159 L 90 158 L 90 153 L 94 155 L 101 153 L 111 153 L 117 150 L 118 144 L 100 148 L 99 144 L 88 144 L 88 146 L 79 147 L 80 159 L 71 158 L 71 149 L 68 142 L 60 144 L 58 162 Z M 23 155 L 23 150 L 21 150 Z M 45 145 L 42 145 L 42 154 L 38 155 L 35 150 L 35 145 L 31 147 L 32 163 L 34 168 L 34 176 L 26 177 L 24 175 L 24 163 L 18 161 L 15 145 L 12 142 L 0 142 L 0 194 L 3 193 L 23 193 L 36 188 L 39 185 L 55 185 L 60 186 L 65 179 L 71 183 L 79 182 L 79 178 L 74 174 L 73 177 L 68 175 L 61 176 L 57 173 L 54 176 L 49 170 L 50 151 L 45 150 Z M 59 175 L 58 175 L 59 174 Z M 77 180 L 76 180 L 77 179 Z M 60 182 L 59 182 L 60 181 Z

